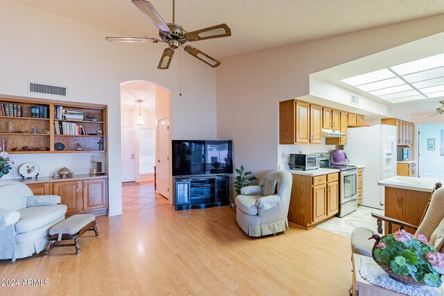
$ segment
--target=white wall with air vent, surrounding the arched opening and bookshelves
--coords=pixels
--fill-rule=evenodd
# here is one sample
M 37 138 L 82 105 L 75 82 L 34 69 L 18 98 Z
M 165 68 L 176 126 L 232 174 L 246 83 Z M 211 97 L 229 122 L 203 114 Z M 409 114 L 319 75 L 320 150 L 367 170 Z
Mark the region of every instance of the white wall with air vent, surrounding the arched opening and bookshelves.
M 66 86 L 66 101 L 108 105 L 110 215 L 117 215 L 121 214 L 120 83 L 148 80 L 167 87 L 172 98 L 173 139 L 212 139 L 216 137 L 216 71 L 184 55 L 179 97 L 177 56 L 169 70 L 158 70 L 164 44 L 119 44 L 105 40 L 105 36 L 113 35 L 121 33 L 13 0 L 0 3 L 0 94 L 53 98 L 28 94 L 26 81 L 31 80 Z M 50 157 L 53 155 L 34 155 L 33 161 L 44 163 L 49 173 L 73 156 L 63 155 L 47 162 Z M 28 160 L 20 155 L 15 157 L 18 164 L 25 159 Z

